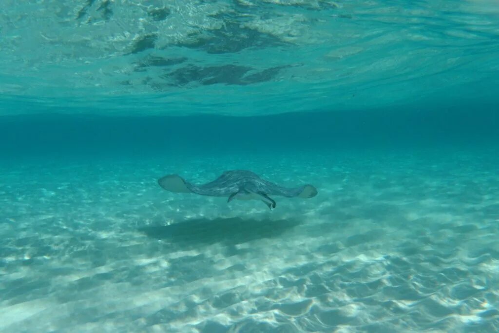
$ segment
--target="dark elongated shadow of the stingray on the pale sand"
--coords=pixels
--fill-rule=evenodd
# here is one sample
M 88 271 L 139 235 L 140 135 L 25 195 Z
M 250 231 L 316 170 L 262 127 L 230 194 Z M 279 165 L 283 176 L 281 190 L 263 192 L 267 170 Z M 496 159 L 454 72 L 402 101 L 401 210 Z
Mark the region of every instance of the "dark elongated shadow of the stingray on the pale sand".
M 236 245 L 262 238 L 276 238 L 299 224 L 301 222 L 295 219 L 201 218 L 167 226 L 144 227 L 139 231 L 150 238 L 166 240 L 182 247 L 215 243 Z

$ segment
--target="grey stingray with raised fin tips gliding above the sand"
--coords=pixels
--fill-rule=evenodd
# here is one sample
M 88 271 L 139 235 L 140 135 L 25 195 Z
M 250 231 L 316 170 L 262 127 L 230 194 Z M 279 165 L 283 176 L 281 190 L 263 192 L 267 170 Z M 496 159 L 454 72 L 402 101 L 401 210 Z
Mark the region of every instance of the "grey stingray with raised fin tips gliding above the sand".
M 270 196 L 312 198 L 317 195 L 317 190 L 312 185 L 286 188 L 261 179 L 257 174 L 246 170 L 225 171 L 214 181 L 203 185 L 188 183 L 179 175 L 164 176 L 158 180 L 158 184 L 165 190 L 175 193 L 227 197 L 227 202 L 234 199 L 261 200 L 269 209 L 275 208 L 275 201 Z

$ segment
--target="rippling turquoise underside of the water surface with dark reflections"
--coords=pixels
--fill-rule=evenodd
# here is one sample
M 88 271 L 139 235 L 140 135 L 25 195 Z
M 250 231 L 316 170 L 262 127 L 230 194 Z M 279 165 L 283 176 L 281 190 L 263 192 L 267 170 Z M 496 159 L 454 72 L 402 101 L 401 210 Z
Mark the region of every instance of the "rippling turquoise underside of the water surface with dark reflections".
M 2 2 L 1 114 L 497 101 L 493 0 Z

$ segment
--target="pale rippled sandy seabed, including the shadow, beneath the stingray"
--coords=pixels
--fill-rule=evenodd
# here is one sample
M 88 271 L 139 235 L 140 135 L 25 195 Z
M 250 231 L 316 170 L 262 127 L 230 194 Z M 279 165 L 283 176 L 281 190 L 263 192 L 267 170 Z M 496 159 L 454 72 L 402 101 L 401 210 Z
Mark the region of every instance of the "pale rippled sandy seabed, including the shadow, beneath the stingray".
M 499 158 L 462 152 L 10 163 L 0 331 L 496 332 Z M 319 195 L 174 195 L 247 168 Z

